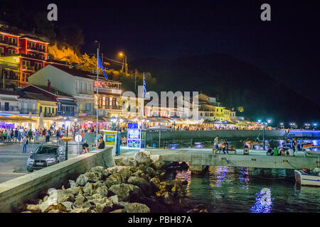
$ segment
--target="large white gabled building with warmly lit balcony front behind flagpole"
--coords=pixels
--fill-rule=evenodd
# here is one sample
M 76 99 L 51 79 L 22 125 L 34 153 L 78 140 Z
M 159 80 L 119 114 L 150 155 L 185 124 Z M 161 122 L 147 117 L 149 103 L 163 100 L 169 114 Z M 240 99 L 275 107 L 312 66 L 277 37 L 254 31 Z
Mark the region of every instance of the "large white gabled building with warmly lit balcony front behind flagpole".
M 82 70 L 75 70 L 62 65 L 47 65 L 29 78 L 29 83 L 36 86 L 47 86 L 73 96 L 78 104 L 75 116 L 95 116 L 97 92 L 97 75 Z M 119 116 L 121 82 L 115 82 L 105 77 L 99 78 L 99 115 Z

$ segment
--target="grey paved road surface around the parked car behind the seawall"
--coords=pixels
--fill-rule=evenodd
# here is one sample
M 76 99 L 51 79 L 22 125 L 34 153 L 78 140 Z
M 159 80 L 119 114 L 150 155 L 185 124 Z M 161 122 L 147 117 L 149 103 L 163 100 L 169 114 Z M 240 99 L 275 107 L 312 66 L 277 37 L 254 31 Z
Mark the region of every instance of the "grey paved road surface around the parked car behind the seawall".
M 56 143 L 55 137 L 51 138 L 50 141 Z M 27 153 L 22 153 L 22 143 L 0 142 L 0 183 L 27 175 L 26 163 L 28 157 L 31 155 L 30 152 L 35 151 L 39 145 L 41 144 L 29 143 L 27 145 Z M 78 143 L 70 141 L 68 143 L 68 159 L 77 156 Z

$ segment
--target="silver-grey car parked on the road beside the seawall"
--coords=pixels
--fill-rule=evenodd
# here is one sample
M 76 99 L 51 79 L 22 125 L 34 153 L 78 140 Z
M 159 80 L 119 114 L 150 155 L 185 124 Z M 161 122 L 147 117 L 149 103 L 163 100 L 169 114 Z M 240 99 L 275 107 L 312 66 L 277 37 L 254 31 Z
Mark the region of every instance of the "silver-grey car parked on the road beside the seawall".
M 40 170 L 64 160 L 65 147 L 63 145 L 40 145 L 36 151 L 31 151 L 27 162 L 27 171 Z

